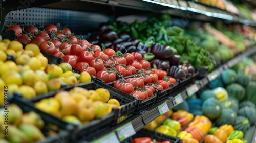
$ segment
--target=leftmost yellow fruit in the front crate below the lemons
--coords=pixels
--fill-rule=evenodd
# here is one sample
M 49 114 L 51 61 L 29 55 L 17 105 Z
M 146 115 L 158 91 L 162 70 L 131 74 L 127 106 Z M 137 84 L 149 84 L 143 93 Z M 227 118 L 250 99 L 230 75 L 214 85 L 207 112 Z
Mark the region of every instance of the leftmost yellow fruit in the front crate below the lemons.
M 59 111 L 60 104 L 55 98 L 46 98 L 36 102 L 35 107 L 49 114 L 56 115 Z

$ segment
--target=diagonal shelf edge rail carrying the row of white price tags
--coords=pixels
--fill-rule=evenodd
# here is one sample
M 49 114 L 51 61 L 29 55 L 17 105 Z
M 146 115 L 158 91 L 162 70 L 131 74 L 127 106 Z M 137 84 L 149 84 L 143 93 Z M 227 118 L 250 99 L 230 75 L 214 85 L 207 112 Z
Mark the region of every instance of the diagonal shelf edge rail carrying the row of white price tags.
M 118 134 L 120 134 L 119 132 L 121 132 L 120 128 L 124 129 L 125 127 L 127 127 L 129 125 L 132 125 L 130 127 L 135 132 L 139 131 L 146 124 L 150 123 L 151 121 L 155 120 L 158 116 L 161 115 L 159 109 L 162 110 L 161 107 L 163 108 L 164 104 L 167 104 L 168 109 L 172 109 L 173 107 L 182 103 L 186 98 L 188 98 L 189 96 L 191 96 L 192 94 L 196 93 L 198 90 L 203 88 L 210 81 L 219 77 L 223 70 L 234 66 L 236 63 L 238 63 L 241 60 L 242 57 L 248 57 L 253 53 L 256 53 L 256 46 L 251 47 L 250 49 L 246 50 L 244 53 L 229 60 L 226 64 L 223 64 L 222 66 L 215 69 L 214 71 L 211 71 L 211 73 L 209 73 L 205 78 L 203 78 L 201 80 L 196 80 L 195 84 L 192 84 L 189 87 L 187 87 L 185 90 L 181 91 L 180 93 L 177 93 L 177 96 L 169 97 L 166 100 L 156 103 L 153 107 L 148 108 L 147 110 L 144 110 L 144 111 L 140 112 L 139 114 L 136 114 L 130 118 L 127 118 L 122 123 L 120 123 L 116 126 L 110 127 L 108 130 L 98 134 L 96 137 L 97 139 L 94 141 L 101 142 L 100 140 L 102 140 L 102 139 L 113 139 L 113 138 L 118 139 Z M 255 126 L 254 126 L 254 129 L 256 129 Z M 131 130 L 128 130 L 128 131 L 131 131 Z M 254 133 L 254 131 L 252 131 L 252 133 Z M 131 137 L 132 135 L 134 135 L 134 134 L 127 133 L 125 138 L 120 137 L 121 140 L 118 139 L 117 141 L 122 141 L 126 138 Z M 253 134 L 251 136 L 253 136 Z M 251 137 L 251 138 L 255 138 L 255 136 L 256 136 L 256 134 L 254 135 L 254 137 Z M 92 141 L 92 140 L 87 140 L 87 141 Z M 84 142 L 84 141 L 81 141 L 81 142 Z M 115 141 L 112 141 L 112 142 L 115 142 Z

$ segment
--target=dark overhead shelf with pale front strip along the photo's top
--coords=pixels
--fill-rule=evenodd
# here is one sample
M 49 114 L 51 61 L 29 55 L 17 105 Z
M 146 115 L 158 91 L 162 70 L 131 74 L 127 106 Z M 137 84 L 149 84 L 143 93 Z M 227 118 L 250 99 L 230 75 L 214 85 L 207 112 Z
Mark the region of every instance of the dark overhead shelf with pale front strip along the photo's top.
M 72 8 L 70 6 L 73 6 Z M 140 11 L 141 14 L 146 14 L 148 11 L 153 13 L 167 13 L 174 16 L 179 16 L 188 19 L 210 20 L 209 18 L 223 19 L 228 22 L 238 22 L 245 25 L 256 26 L 256 22 L 247 20 L 244 17 L 234 15 L 225 10 L 208 7 L 191 1 L 177 1 L 177 0 L 76 0 L 76 1 L 1 1 L 1 19 L 13 10 L 26 9 L 31 7 L 45 7 L 45 8 L 57 8 L 57 9 L 69 9 L 80 11 L 94 11 L 105 12 L 115 15 L 131 15 L 137 14 Z M 95 9 L 94 7 L 98 7 Z M 133 9 L 134 11 L 125 11 L 124 9 Z M 187 16 L 192 14 L 193 17 Z M 4 22 L 1 21 L 2 24 Z

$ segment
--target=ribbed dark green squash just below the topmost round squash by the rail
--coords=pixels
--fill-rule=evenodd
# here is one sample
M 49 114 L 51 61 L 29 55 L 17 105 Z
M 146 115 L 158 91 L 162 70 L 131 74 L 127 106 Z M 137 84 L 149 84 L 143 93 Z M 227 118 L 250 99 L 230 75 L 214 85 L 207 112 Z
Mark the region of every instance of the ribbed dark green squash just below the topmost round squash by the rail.
M 238 101 L 242 101 L 245 95 L 245 89 L 238 83 L 231 83 L 226 87 L 229 97 L 237 98 Z

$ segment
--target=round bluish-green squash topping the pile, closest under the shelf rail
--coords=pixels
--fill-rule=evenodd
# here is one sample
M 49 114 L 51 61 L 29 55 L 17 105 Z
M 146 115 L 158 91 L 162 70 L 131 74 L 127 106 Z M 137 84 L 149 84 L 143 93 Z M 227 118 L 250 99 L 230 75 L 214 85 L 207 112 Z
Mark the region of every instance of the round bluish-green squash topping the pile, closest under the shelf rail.
M 237 80 L 237 73 L 233 69 L 226 69 L 221 75 L 221 80 L 225 85 L 234 83 Z

